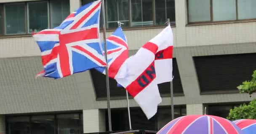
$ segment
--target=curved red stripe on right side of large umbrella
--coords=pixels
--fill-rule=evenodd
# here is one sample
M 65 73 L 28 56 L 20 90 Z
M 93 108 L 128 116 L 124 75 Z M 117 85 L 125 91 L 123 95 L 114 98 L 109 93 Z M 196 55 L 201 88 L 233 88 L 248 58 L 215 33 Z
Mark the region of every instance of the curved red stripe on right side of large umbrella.
M 224 119 L 218 116 L 210 116 L 210 117 L 212 117 L 215 121 L 218 121 L 219 125 L 223 126 L 223 128 L 227 131 L 228 134 L 238 134 L 233 124 L 227 121 L 227 119 Z

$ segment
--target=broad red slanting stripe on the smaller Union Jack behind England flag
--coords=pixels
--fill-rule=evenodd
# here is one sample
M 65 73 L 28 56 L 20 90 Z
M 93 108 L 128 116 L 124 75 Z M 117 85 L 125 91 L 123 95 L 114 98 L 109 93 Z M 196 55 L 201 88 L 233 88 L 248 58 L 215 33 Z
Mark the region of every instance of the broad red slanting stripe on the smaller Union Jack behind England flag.
M 117 75 L 118 70 L 126 59 L 128 59 L 128 50 L 123 51 L 109 66 L 109 77 L 115 78 L 115 75 Z

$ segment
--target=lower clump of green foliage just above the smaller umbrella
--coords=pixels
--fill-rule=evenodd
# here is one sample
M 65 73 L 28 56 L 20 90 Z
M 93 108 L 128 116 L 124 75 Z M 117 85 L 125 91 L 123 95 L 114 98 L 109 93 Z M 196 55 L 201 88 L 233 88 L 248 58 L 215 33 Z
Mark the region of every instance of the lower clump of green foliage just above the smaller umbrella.
M 231 121 L 238 119 L 256 119 L 256 99 L 249 104 L 242 104 L 239 107 L 230 109 L 227 119 Z

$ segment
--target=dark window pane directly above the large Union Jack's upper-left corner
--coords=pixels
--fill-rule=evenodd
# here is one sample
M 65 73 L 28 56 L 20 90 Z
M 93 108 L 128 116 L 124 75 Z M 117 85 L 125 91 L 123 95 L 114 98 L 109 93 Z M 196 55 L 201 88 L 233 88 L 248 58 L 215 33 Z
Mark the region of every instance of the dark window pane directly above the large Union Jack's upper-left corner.
M 29 32 L 38 32 L 48 28 L 48 3 L 28 3 Z

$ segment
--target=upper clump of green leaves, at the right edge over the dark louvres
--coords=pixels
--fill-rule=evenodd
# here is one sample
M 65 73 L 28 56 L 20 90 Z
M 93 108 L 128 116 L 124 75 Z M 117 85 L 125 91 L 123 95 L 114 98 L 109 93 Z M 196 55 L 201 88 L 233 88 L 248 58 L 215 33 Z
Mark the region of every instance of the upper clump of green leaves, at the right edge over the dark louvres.
M 253 72 L 252 77 L 251 81 L 245 81 L 237 87 L 240 93 L 248 93 L 250 97 L 253 92 L 256 92 L 256 70 Z

